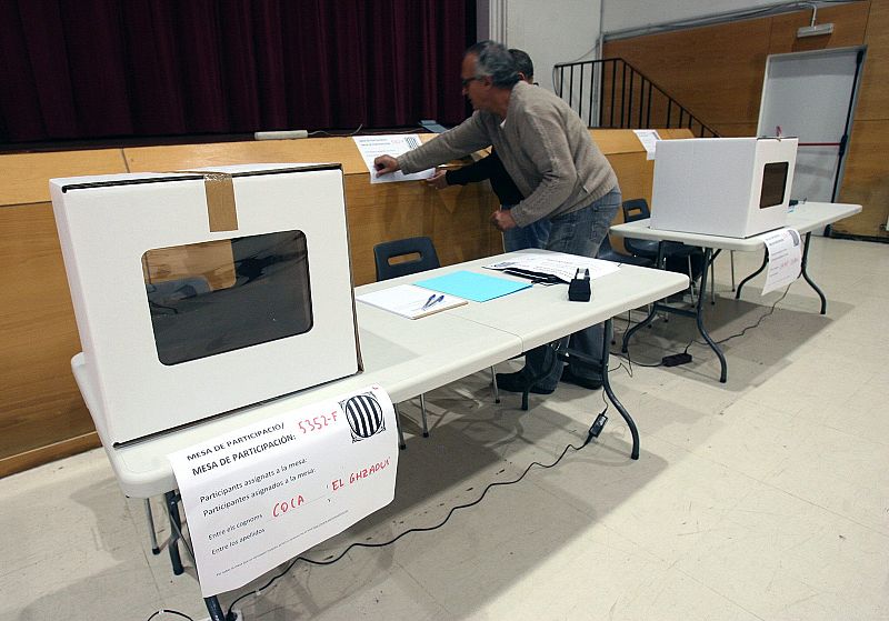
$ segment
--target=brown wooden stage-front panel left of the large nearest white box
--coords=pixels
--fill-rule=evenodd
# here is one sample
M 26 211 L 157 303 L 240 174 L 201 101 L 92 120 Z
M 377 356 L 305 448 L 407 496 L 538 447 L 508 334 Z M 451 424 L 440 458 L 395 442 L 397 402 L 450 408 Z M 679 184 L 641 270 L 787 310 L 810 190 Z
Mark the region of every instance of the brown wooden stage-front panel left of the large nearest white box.
M 70 449 L 66 441 L 93 427 L 71 374 L 81 348 L 50 203 L 0 208 L 0 264 L 3 475 L 12 468 L 7 459 L 31 451 L 40 453 L 31 459 L 56 459 Z M 86 445 L 97 444 L 93 438 Z

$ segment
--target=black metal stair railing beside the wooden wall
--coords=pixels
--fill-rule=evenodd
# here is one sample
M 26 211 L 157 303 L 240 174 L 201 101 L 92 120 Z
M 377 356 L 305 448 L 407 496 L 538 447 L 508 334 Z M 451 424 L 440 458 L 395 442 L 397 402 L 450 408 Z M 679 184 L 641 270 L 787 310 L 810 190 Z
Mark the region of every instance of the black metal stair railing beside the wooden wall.
M 590 128 L 688 128 L 701 138 L 719 136 L 622 58 L 558 63 L 552 82 L 556 94 L 586 118 Z

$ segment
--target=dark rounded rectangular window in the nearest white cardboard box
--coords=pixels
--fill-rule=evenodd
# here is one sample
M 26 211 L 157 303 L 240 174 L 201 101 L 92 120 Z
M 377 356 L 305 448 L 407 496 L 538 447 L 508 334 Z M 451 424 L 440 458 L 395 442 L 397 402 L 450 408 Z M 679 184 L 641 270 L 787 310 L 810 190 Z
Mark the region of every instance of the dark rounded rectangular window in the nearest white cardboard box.
M 302 231 L 149 250 L 142 272 L 158 359 L 167 365 L 312 328 Z

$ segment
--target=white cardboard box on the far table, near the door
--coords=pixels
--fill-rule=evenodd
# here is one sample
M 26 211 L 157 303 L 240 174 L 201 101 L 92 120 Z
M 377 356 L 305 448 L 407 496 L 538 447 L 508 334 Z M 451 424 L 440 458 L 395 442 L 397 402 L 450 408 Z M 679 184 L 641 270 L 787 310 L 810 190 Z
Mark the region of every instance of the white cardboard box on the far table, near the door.
M 651 228 L 748 238 L 787 220 L 796 138 L 661 140 Z

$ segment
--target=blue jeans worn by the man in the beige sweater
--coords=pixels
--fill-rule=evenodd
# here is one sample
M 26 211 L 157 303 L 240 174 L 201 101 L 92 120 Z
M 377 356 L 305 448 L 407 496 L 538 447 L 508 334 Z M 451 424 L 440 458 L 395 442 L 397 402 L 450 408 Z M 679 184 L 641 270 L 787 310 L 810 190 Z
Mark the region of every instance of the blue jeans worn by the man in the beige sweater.
M 599 244 L 602 243 L 605 236 L 608 234 L 611 220 L 620 208 L 620 188 L 616 187 L 599 200 L 593 201 L 589 207 L 551 219 L 552 228 L 549 232 L 547 250 L 595 258 L 599 251 Z M 603 338 L 605 329 L 599 323 L 575 332 L 567 339 L 569 348 L 599 360 L 602 353 Z M 562 365 L 552 364 L 553 355 L 552 348 L 549 345 L 535 348 L 525 355 L 525 369 L 522 369 L 522 372 L 529 379 L 541 375 L 552 365 L 549 373 L 536 382 L 537 387 L 545 390 L 555 390 L 562 374 Z M 602 379 L 602 370 L 599 367 L 570 362 L 569 364 L 571 365 L 571 372 L 576 377 L 596 381 L 601 381 Z

